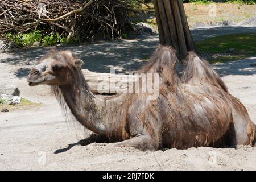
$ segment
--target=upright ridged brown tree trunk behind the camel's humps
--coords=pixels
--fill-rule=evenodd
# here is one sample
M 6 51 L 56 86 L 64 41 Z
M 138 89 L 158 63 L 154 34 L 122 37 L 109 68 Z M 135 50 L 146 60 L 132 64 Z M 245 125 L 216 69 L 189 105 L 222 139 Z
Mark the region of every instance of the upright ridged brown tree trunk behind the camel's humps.
M 154 6 L 160 44 L 174 47 L 181 56 L 195 51 L 182 0 L 154 0 Z

